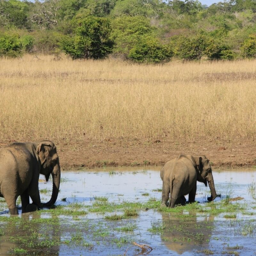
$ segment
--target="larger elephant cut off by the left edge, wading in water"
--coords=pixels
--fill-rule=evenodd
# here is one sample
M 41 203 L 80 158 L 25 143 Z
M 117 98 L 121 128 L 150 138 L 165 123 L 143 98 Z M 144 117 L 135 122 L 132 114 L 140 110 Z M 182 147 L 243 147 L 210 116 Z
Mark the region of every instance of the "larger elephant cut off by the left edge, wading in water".
M 52 174 L 52 197 L 41 204 L 39 174 L 48 181 Z M 11 215 L 17 215 L 17 197 L 21 198 L 22 213 L 50 206 L 57 200 L 60 188 L 60 163 L 52 141 L 14 142 L 0 148 L 0 197 L 4 197 Z M 29 196 L 33 204 L 29 204 Z

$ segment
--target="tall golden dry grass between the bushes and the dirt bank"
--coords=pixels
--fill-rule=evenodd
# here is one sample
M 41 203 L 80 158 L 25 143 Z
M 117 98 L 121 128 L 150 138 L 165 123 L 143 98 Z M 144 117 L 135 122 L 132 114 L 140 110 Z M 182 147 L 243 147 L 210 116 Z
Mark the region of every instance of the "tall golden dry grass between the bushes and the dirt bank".
M 256 61 L 0 60 L 0 139 L 255 136 Z

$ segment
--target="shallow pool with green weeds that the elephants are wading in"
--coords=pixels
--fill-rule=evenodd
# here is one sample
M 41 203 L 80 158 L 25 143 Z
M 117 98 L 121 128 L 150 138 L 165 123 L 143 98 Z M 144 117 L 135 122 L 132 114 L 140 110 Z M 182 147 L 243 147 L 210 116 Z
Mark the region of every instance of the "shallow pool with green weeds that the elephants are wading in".
M 256 169 L 213 169 L 213 178 L 220 194 L 213 203 L 197 182 L 197 203 L 170 209 L 159 207 L 160 167 L 62 171 L 54 209 L 10 217 L 0 198 L 0 256 L 149 252 L 133 242 L 152 247 L 147 255 L 256 255 Z M 43 179 L 45 202 L 52 181 Z

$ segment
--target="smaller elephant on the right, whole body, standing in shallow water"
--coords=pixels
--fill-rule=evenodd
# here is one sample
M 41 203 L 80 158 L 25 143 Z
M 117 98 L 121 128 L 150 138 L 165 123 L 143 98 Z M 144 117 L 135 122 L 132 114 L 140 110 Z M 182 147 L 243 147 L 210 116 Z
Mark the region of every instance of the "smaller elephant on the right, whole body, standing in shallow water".
M 180 155 L 164 164 L 160 172 L 163 180 L 161 206 L 174 207 L 175 204 L 184 204 L 184 196 L 188 195 L 188 202 L 195 202 L 196 181 L 209 184 L 212 201 L 216 197 L 212 168 L 205 156 Z

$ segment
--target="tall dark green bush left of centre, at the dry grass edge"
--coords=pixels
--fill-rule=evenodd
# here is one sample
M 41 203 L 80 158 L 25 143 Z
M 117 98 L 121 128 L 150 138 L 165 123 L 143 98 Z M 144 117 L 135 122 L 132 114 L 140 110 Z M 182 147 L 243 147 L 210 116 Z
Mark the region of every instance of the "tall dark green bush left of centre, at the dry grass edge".
M 64 36 L 60 48 L 72 59 L 102 59 L 112 52 L 114 42 L 110 39 L 110 22 L 93 16 L 73 20 L 74 33 Z

